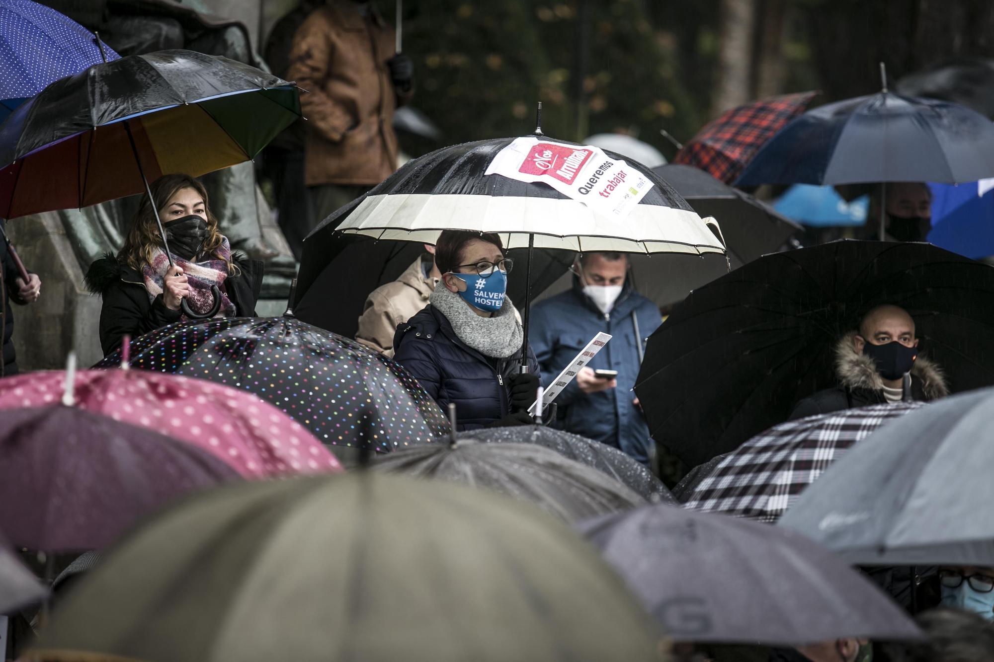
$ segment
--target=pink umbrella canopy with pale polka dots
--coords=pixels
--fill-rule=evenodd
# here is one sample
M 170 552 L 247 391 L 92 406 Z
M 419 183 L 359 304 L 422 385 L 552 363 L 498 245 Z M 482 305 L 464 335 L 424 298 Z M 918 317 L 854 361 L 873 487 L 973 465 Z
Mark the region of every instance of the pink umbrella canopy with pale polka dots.
M 143 370 L 74 375 L 74 406 L 202 448 L 247 478 L 341 471 L 310 432 L 245 391 Z M 59 401 L 66 373 L 25 373 L 0 382 L 0 411 Z

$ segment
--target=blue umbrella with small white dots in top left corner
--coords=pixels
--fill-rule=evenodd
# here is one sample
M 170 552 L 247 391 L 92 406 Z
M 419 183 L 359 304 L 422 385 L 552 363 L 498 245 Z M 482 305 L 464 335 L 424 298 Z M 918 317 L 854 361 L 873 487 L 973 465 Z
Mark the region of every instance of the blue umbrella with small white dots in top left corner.
M 0 0 L 0 121 L 49 83 L 103 62 L 94 35 L 32 0 Z M 107 47 L 108 61 L 120 56 Z

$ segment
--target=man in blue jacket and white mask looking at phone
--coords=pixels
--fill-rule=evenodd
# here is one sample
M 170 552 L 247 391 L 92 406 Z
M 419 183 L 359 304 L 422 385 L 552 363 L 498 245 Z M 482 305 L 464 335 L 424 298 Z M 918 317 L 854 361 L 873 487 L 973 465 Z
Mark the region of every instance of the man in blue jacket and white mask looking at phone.
M 627 281 L 624 253 L 583 253 L 573 269 L 571 290 L 532 308 L 529 342 L 545 385 L 550 386 L 597 332 L 612 338 L 556 399 L 556 425 L 647 462 L 652 440 L 632 388 L 641 366 L 639 349 L 662 323 L 659 309 Z M 616 371 L 617 376 L 598 377 L 598 369 Z

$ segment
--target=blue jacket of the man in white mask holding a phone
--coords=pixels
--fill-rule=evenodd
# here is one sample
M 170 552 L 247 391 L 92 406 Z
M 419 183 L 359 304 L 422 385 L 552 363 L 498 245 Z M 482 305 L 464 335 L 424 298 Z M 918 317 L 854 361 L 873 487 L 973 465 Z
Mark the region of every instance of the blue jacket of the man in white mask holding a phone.
M 635 338 L 632 312 L 637 315 L 641 339 Z M 590 439 L 620 448 L 646 462 L 649 457 L 649 427 L 634 404 L 635 378 L 639 362 L 636 342 L 656 330 L 662 322 L 659 308 L 625 284 L 610 313 L 604 315 L 583 294 L 580 279 L 573 288 L 541 301 L 532 308 L 529 341 L 539 359 L 548 387 L 598 331 L 612 338 L 589 364 L 594 370 L 616 370 L 616 389 L 583 394 L 577 381 L 570 383 L 559 398 L 557 426 Z

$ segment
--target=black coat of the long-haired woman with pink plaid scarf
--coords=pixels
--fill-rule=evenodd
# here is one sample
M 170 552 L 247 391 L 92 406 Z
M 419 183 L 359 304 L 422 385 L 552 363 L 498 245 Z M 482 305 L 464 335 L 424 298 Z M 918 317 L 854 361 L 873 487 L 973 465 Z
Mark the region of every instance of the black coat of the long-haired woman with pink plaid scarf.
M 239 317 L 254 317 L 255 302 L 262 285 L 262 262 L 248 260 L 244 255 L 232 258 L 242 272 L 225 279 L 223 289 L 235 304 Z M 162 295 L 148 300 L 148 290 L 139 271 L 116 256 L 106 254 L 89 265 L 86 287 L 103 298 L 100 307 L 100 348 L 104 356 L 114 352 L 121 338 L 154 331 L 178 322 L 182 313 L 166 307 Z

